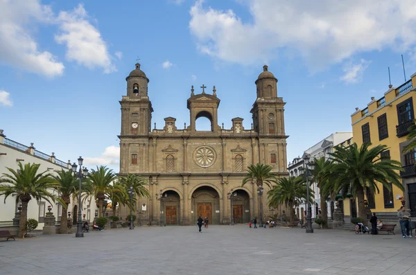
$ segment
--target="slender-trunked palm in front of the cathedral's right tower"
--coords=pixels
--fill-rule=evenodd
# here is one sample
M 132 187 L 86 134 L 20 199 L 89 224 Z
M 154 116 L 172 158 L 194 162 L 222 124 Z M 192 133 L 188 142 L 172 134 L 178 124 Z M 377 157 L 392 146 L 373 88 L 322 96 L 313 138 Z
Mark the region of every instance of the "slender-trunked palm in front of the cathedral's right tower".
M 255 182 L 257 184 L 257 187 L 260 189 L 260 226 L 263 224 L 263 202 L 262 202 L 262 192 L 263 192 L 263 184 L 266 184 L 269 188 L 272 187 L 273 181 L 276 180 L 276 177 L 272 175 L 272 166 L 263 164 L 263 163 L 257 163 L 255 166 L 254 164 L 251 164 L 247 168 L 247 174 L 245 175 L 243 179 L 243 183 L 241 186 L 244 186 L 244 184 L 247 184 L 250 182 Z M 232 210 L 231 210 L 232 211 Z

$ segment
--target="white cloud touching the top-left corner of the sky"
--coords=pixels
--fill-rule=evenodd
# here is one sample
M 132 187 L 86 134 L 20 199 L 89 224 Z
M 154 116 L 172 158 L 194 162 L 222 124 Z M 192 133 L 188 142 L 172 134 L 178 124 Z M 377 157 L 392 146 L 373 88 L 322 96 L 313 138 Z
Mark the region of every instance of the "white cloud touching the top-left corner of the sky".
M 53 12 L 37 0 L 0 1 L 0 62 L 41 76 L 61 76 L 64 65 L 40 50 L 31 30 L 50 24 Z

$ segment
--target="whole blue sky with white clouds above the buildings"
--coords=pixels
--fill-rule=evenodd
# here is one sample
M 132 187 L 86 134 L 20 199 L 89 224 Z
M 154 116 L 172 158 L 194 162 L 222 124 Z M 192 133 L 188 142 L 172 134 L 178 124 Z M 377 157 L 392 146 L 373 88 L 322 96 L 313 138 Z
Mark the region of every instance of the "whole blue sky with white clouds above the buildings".
M 0 2 L 0 129 L 58 159 L 118 166 L 119 100 L 135 68 L 150 79 L 153 123 L 189 125 L 191 85 L 216 86 L 218 123 L 250 128 L 268 64 L 286 104 L 288 161 L 355 107 L 416 71 L 414 1 Z M 199 124 L 198 124 L 199 123 Z M 197 127 L 207 127 L 203 121 Z

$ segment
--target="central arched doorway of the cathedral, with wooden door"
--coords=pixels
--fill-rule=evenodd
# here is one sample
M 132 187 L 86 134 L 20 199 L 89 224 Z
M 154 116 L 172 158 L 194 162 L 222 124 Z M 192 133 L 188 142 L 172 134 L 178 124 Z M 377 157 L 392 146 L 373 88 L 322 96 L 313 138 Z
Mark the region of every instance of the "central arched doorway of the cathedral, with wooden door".
M 196 188 L 191 198 L 191 224 L 196 224 L 198 217 L 207 217 L 210 224 L 220 224 L 220 196 L 209 186 Z

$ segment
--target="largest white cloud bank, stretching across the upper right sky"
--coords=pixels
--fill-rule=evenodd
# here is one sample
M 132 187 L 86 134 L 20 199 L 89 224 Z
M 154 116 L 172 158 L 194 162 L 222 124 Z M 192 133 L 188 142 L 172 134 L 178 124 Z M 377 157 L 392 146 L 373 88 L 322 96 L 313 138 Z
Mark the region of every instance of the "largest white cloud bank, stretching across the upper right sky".
M 218 60 L 259 64 L 295 51 L 311 69 L 322 69 L 383 48 L 416 57 L 413 0 L 245 0 L 247 21 L 203 2 L 192 6 L 189 28 L 199 51 Z

